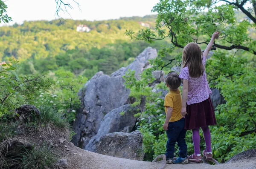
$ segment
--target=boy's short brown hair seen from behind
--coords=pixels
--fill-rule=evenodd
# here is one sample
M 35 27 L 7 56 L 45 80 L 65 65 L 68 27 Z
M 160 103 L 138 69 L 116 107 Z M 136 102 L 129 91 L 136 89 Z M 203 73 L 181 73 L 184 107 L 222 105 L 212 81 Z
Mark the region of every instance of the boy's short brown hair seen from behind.
M 181 79 L 176 72 L 169 72 L 166 75 L 165 81 L 170 89 L 178 89 L 181 84 Z

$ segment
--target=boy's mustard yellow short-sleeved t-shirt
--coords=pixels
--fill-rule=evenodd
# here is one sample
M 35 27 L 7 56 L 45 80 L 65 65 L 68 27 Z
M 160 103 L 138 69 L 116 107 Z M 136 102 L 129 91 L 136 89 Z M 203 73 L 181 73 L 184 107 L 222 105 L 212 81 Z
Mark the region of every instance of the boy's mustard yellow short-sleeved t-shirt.
M 176 91 L 170 91 L 169 93 L 167 93 L 164 99 L 165 112 L 167 112 L 167 106 L 172 107 L 173 109 L 172 116 L 169 122 L 174 122 L 182 118 L 182 115 L 181 115 L 182 98 L 180 94 L 180 89 L 177 89 Z

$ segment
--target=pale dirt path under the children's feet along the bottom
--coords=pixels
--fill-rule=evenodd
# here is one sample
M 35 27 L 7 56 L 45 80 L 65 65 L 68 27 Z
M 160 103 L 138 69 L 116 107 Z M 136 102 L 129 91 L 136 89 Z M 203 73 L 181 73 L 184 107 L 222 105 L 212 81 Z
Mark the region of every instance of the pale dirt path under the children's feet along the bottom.
M 68 161 L 68 169 L 159 169 L 162 166 L 161 162 L 151 163 L 100 155 L 80 149 L 70 142 L 61 146 L 67 146 L 68 149 L 63 153 L 63 158 L 67 158 Z M 165 169 L 256 169 L 256 158 L 213 166 L 204 163 L 171 164 L 166 165 Z

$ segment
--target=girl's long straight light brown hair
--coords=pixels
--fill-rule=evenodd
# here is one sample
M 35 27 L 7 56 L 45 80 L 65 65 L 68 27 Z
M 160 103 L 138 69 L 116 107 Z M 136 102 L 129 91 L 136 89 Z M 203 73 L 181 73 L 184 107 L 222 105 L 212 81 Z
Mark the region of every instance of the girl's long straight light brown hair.
M 190 77 L 201 77 L 204 74 L 203 52 L 196 43 L 189 43 L 183 49 L 182 68 L 188 66 Z

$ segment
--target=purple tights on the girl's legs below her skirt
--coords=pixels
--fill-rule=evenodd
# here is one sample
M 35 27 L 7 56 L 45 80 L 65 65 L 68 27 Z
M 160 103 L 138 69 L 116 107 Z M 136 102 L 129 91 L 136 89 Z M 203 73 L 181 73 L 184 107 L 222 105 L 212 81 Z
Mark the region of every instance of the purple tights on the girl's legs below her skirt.
M 211 147 L 211 132 L 208 126 L 201 127 L 204 133 L 204 141 L 206 144 L 206 152 L 212 152 Z M 195 129 L 192 129 L 192 139 L 194 143 L 194 150 L 195 155 L 201 154 L 200 153 L 200 135 L 199 135 L 200 127 L 197 127 Z

